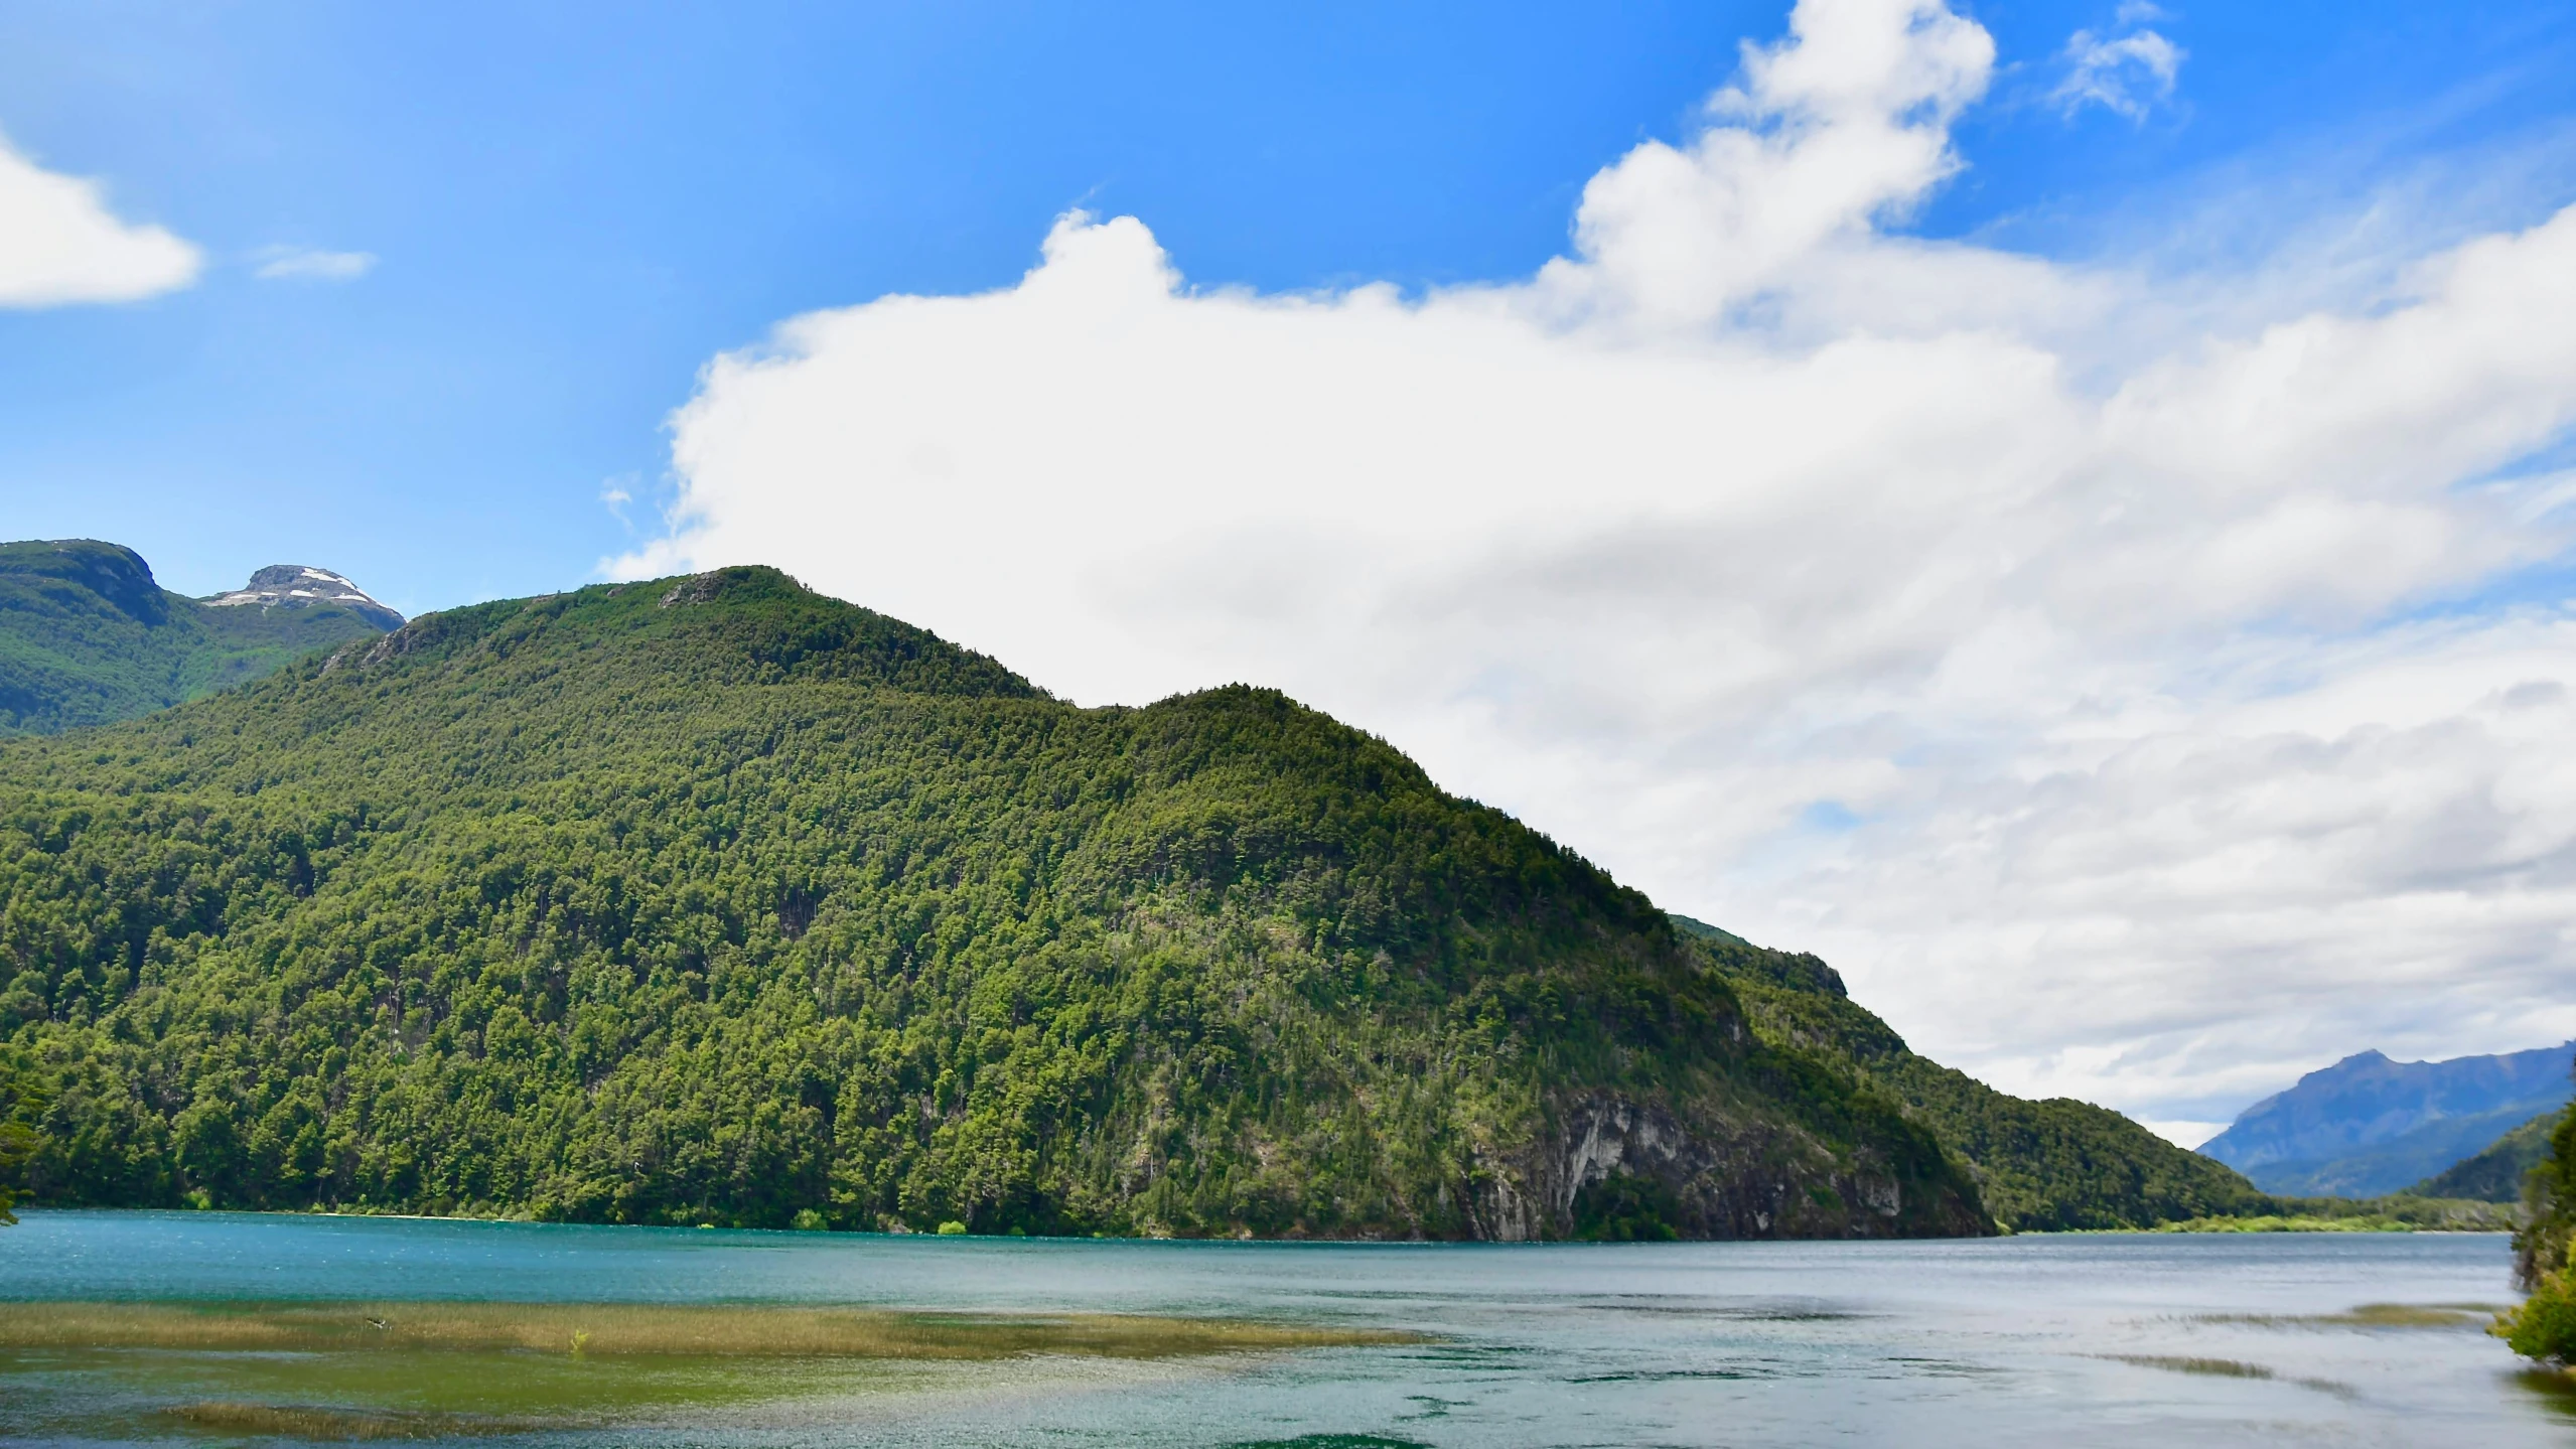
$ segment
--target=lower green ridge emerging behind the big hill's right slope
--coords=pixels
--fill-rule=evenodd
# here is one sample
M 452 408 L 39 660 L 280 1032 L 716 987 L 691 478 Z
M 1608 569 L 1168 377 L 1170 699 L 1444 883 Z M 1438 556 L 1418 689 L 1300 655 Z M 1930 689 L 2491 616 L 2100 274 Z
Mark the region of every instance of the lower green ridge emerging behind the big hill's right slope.
M 1844 996 L 1814 955 L 1777 952 L 1677 916 L 1783 1050 L 1811 1050 L 1901 1099 L 1965 1158 L 1986 1210 L 2017 1230 L 2151 1228 L 2269 1204 L 2223 1163 L 2187 1153 L 2087 1102 L 2027 1102 L 1914 1055 L 1886 1022 Z

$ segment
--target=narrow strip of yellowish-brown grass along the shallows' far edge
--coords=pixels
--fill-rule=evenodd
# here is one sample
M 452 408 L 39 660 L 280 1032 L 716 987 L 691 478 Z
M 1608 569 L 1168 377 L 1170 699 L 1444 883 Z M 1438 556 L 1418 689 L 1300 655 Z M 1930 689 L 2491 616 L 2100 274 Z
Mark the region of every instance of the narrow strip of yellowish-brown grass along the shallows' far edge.
M 649 1302 L 13 1302 L 0 1349 L 528 1351 L 572 1359 L 1172 1359 L 1262 1349 L 1412 1343 L 1360 1328 L 1293 1328 L 1115 1313 L 966 1315 L 878 1307 Z

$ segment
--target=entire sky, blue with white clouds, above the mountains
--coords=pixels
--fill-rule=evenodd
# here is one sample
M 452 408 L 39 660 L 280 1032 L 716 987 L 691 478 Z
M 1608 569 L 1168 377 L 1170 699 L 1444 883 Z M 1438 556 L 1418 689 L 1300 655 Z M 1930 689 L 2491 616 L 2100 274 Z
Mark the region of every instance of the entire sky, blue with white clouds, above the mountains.
M 2576 0 L 13 5 L 0 533 L 1278 685 L 2197 1140 L 2576 1035 L 2571 75 Z M 26 306 L 39 211 L 142 299 Z

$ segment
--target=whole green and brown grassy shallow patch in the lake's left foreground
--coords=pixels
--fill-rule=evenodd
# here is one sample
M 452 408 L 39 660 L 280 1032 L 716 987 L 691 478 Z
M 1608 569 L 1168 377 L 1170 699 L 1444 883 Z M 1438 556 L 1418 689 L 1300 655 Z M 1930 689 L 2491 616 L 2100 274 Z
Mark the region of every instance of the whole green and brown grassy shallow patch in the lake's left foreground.
M 0 1439 L 482 1439 L 848 1421 L 1419 1336 L 1115 1313 L 639 1302 L 10 1302 Z M 819 1416 L 819 1418 L 817 1418 Z

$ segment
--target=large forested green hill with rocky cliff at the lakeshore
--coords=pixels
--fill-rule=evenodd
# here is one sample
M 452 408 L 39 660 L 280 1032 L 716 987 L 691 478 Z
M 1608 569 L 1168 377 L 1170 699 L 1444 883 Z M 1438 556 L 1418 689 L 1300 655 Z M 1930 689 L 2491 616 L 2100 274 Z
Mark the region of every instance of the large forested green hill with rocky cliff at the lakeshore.
M 1079 710 L 765 569 L 0 741 L 41 1202 L 1991 1230 L 1646 898 L 1247 687 Z

